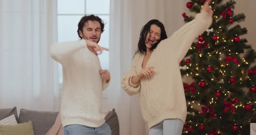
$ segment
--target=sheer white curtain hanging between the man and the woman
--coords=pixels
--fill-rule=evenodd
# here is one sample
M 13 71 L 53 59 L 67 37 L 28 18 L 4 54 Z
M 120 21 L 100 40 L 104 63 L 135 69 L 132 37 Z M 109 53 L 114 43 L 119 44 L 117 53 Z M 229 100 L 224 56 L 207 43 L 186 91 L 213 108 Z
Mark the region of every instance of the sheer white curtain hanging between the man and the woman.
M 130 69 L 134 52 L 132 40 L 134 0 L 111 0 L 110 6 L 110 72 L 112 83 L 108 98 L 118 114 L 120 135 L 144 135 L 144 122 L 140 113 L 139 98 L 128 96 L 121 90 L 121 77 Z M 136 32 L 138 32 L 136 30 Z

